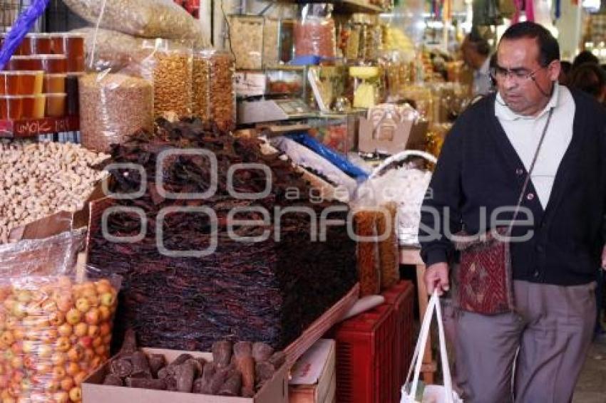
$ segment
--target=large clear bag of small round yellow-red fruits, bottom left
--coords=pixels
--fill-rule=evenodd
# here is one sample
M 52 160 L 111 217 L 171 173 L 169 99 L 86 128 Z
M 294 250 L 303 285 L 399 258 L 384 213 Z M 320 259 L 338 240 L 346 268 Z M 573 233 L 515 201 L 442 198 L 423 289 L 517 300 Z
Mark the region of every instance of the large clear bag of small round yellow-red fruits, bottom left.
M 0 399 L 81 402 L 81 383 L 110 354 L 121 278 L 88 280 L 87 269 L 62 265 L 16 271 L 0 276 Z

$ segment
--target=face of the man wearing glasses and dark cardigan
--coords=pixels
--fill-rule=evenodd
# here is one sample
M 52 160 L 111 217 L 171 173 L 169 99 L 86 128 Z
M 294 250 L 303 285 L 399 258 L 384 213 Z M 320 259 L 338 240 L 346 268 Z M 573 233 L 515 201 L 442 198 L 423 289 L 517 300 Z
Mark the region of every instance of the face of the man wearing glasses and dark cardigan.
M 503 39 L 497 51 L 496 80 L 500 96 L 510 110 L 534 116 L 549 101 L 553 81 L 560 75 L 560 62 L 539 64 L 535 38 Z

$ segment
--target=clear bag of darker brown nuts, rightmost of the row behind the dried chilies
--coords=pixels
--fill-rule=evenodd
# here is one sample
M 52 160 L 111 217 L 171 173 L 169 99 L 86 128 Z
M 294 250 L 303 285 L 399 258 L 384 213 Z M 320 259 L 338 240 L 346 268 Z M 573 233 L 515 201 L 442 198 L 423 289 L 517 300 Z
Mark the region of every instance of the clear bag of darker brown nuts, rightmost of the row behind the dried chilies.
M 233 130 L 236 119 L 235 63 L 231 53 L 207 49 L 193 56 L 193 115 Z

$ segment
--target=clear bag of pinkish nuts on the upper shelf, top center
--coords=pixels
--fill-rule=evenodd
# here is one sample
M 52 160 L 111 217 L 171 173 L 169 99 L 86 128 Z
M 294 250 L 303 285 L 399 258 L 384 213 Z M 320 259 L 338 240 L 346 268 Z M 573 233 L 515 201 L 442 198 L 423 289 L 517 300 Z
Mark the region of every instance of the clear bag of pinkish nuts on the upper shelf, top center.
M 294 26 L 295 56 L 336 56 L 336 28 L 331 15 L 330 4 L 306 4 L 302 8 L 301 19 Z

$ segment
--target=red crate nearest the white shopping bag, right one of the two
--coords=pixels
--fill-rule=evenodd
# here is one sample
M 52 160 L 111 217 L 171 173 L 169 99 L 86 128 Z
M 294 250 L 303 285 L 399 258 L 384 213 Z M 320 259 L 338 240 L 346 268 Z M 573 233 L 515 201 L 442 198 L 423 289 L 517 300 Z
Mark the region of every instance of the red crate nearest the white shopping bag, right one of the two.
M 399 399 L 414 352 L 414 285 L 411 281 L 400 281 L 396 286 L 385 291 L 383 296 L 385 303 L 394 306 L 396 315 L 393 382 L 396 388 L 394 393 Z

